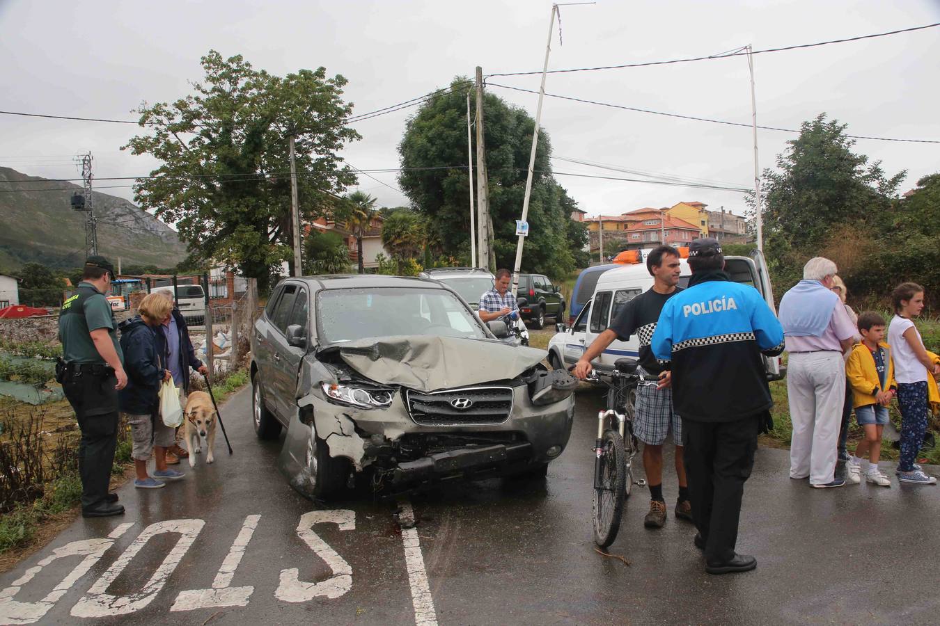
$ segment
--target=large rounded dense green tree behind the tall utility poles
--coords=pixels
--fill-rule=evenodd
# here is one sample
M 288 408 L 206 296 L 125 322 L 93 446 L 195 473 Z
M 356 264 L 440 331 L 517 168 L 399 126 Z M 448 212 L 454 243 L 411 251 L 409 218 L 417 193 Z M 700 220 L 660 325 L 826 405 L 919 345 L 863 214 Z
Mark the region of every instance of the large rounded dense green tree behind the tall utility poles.
M 466 88 L 456 78 L 451 89 L 427 100 L 406 124 L 399 144 L 402 172 L 399 185 L 412 206 L 427 218 L 431 241 L 441 252 L 470 257 L 470 209 L 467 144 Z M 522 213 L 525 176 L 535 120 L 524 110 L 486 94 L 484 141 L 490 181 L 490 214 L 494 228 L 496 264 L 512 267 L 515 260 L 515 221 Z M 473 112 L 471 112 L 473 115 Z M 523 270 L 561 276 L 572 270 L 573 244 L 568 240 L 570 212 L 567 197 L 552 177 L 548 133 L 539 133 L 535 173 L 529 202 L 529 236 L 525 241 Z M 442 169 L 442 166 L 450 166 Z

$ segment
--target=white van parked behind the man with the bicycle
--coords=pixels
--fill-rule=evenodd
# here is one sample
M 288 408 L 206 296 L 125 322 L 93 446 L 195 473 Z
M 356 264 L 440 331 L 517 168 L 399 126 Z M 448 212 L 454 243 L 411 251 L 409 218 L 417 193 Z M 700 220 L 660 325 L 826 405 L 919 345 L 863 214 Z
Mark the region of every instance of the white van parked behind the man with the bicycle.
M 692 270 L 686 259 L 680 259 L 681 274 L 679 286 L 685 287 L 692 278 Z M 754 251 L 753 257 L 726 256 L 725 271 L 734 282 L 742 282 L 755 287 L 767 300 L 772 311 L 774 307 L 774 292 L 771 288 L 770 277 L 767 274 L 767 265 L 763 254 Z M 563 324 L 556 325 L 557 333 L 548 344 L 548 360 L 556 369 L 568 368 L 574 365 L 584 354 L 587 345 L 590 345 L 599 334 L 606 330 L 611 320 L 617 317 L 620 308 L 631 299 L 647 291 L 652 286 L 652 277 L 647 270 L 646 263 L 632 266 L 618 267 L 604 272 L 598 279 L 594 288 L 594 296 L 589 304 L 581 310 L 572 328 Z M 607 346 L 603 354 L 593 361 L 593 365 L 603 368 L 612 368 L 617 359 L 623 357 L 639 357 L 639 340 L 636 335 L 629 341 L 614 340 Z M 779 380 L 786 375 L 781 357 L 764 357 L 768 380 Z

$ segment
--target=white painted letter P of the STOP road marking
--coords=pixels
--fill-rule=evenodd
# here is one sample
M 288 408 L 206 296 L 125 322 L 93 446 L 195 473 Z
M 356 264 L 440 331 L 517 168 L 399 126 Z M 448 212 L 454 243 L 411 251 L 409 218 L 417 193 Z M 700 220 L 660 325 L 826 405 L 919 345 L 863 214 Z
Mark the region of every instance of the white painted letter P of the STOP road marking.
M 111 531 L 108 539 L 86 539 L 79 542 L 66 543 L 63 546 L 55 548 L 53 554 L 43 558 L 34 567 L 29 568 L 13 584 L 0 590 L 0 624 L 31 624 L 39 621 L 49 612 L 56 602 L 58 602 L 66 592 L 71 589 L 79 578 L 88 573 L 95 563 L 101 559 L 104 552 L 110 548 L 115 540 L 127 532 L 127 529 L 133 527 L 133 522 L 121 524 Z M 82 562 L 62 579 L 55 588 L 50 591 L 46 597 L 35 603 L 21 603 L 13 600 L 13 597 L 29 581 L 36 577 L 36 574 L 42 571 L 53 561 L 64 557 L 81 557 Z

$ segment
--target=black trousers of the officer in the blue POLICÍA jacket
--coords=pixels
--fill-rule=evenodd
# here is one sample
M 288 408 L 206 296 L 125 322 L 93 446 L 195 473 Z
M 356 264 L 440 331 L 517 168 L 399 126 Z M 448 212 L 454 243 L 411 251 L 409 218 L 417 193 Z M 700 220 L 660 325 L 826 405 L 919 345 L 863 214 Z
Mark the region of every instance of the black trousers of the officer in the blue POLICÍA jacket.
M 744 481 L 758 447 L 760 416 L 706 422 L 682 420 L 685 473 L 692 517 L 705 539 L 705 558 L 734 557 Z

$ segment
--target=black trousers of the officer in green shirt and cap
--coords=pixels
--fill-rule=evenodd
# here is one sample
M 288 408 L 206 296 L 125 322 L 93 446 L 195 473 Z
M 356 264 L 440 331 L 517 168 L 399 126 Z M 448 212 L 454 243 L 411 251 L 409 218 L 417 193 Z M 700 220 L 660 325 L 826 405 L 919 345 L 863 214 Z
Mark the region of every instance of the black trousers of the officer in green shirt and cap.
M 110 369 L 102 374 L 69 372 L 62 383 L 82 431 L 78 473 L 82 478 L 83 511 L 102 506 L 108 495 L 118 445 L 117 383 Z

